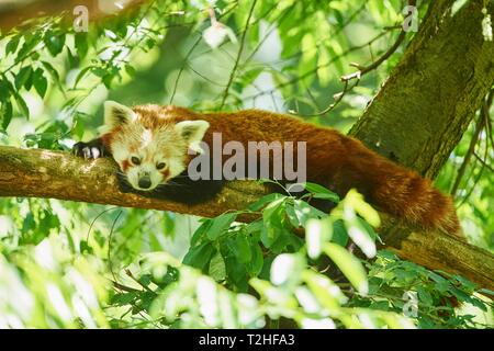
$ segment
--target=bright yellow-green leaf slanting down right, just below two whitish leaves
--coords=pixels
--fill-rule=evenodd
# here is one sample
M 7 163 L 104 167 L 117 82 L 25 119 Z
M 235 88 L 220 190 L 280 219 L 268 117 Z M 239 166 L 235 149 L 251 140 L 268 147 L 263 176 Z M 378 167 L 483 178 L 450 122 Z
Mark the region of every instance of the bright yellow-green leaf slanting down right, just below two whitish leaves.
M 324 252 L 336 263 L 353 287 L 362 295 L 367 295 L 369 283 L 362 263 L 345 248 L 333 242 L 324 245 Z

